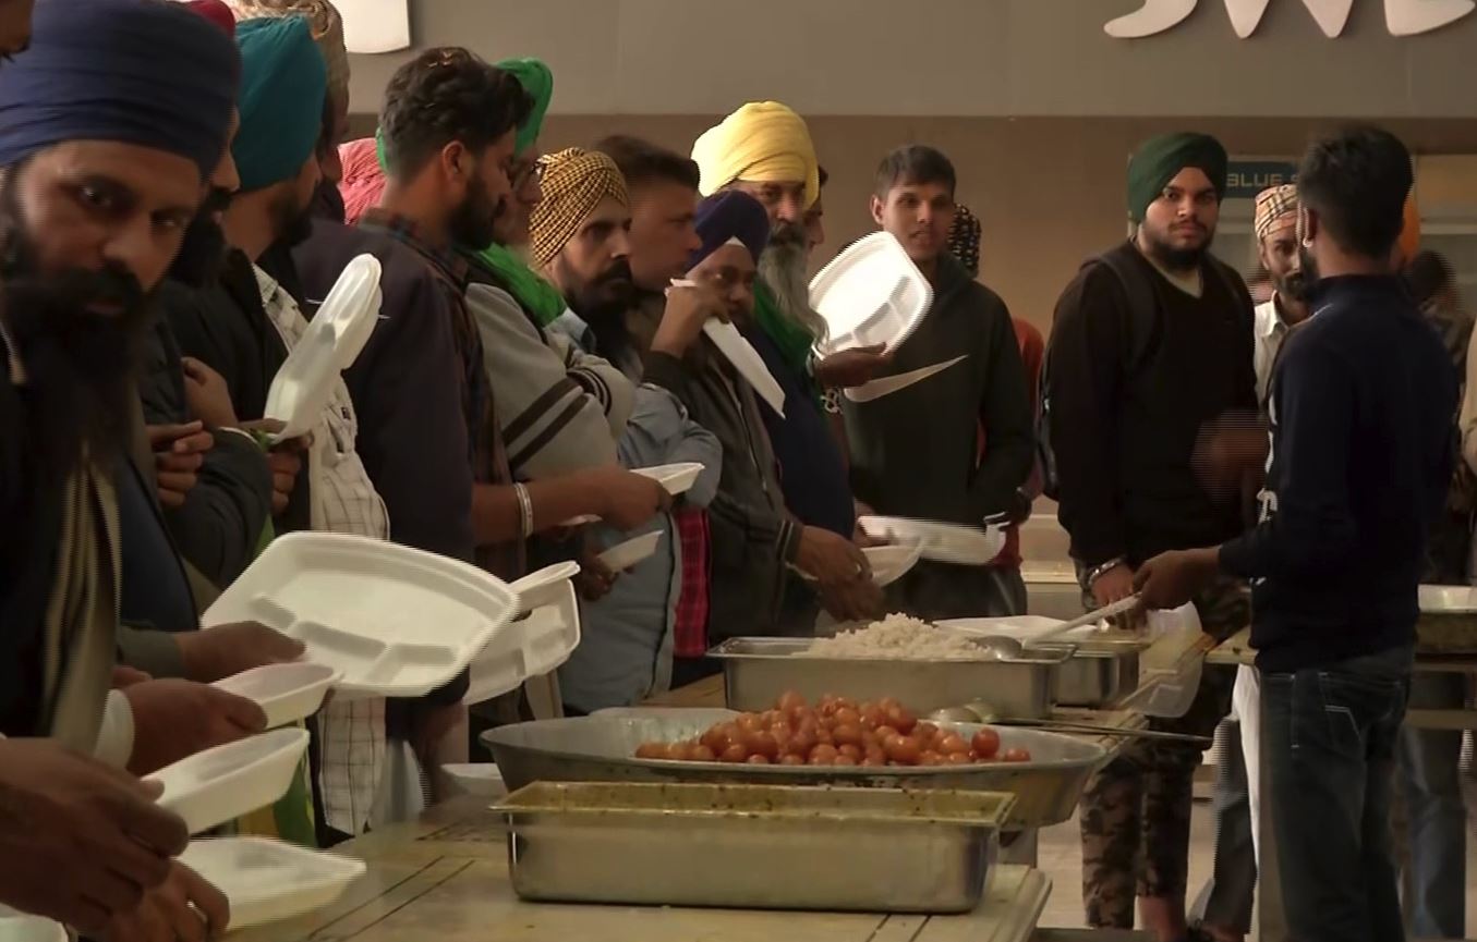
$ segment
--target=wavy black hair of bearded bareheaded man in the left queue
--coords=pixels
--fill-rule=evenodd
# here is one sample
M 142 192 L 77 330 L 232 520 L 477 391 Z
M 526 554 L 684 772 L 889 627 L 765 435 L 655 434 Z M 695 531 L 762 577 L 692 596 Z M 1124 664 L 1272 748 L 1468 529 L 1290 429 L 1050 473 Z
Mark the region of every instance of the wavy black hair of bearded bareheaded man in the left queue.
M 480 154 L 533 112 L 517 77 L 461 47 L 428 49 L 384 90 L 380 130 L 396 174 L 415 174 L 446 145 Z

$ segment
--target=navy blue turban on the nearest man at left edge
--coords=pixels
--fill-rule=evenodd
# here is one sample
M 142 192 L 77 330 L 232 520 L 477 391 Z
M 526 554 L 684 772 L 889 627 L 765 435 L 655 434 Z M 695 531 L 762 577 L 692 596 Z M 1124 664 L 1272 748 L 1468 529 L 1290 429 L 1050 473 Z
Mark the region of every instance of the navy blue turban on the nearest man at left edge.
M 31 46 L 0 80 L 0 167 L 66 140 L 183 157 L 201 179 L 226 151 L 241 59 L 177 3 L 41 0 Z

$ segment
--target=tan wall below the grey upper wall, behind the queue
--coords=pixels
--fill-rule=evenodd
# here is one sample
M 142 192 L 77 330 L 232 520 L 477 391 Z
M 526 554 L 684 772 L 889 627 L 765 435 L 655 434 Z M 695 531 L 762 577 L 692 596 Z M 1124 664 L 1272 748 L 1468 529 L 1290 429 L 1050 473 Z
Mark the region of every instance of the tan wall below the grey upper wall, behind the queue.
M 948 154 L 959 198 L 984 221 L 982 278 L 1010 310 L 1047 331 L 1052 309 L 1077 266 L 1124 235 L 1124 162 L 1134 143 L 1176 121 L 812 118 L 815 145 L 832 174 L 826 189 L 827 245 L 821 261 L 871 230 L 867 196 L 880 157 L 907 142 Z M 1431 154 L 1477 154 L 1477 123 L 1391 123 L 1411 146 Z M 634 133 L 682 151 L 705 118 L 573 117 L 548 121 L 545 149 Z M 1199 123 L 1233 154 L 1297 155 L 1313 127 L 1292 120 Z

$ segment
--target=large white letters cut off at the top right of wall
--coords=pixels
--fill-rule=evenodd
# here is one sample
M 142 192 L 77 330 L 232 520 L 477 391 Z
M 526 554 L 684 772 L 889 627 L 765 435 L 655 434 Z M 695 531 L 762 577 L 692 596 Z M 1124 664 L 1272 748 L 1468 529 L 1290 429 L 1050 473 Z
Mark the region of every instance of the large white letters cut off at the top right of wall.
M 1284 0 L 1292 3 L 1294 0 Z M 1354 0 L 1297 0 L 1317 21 L 1328 38 L 1337 38 L 1349 24 Z M 1226 15 L 1241 38 L 1261 25 L 1272 0 L 1224 0 Z M 1120 40 L 1139 40 L 1168 32 L 1195 12 L 1198 0 L 1143 0 L 1143 6 L 1109 22 L 1103 30 Z M 1431 32 L 1467 18 L 1477 10 L 1477 0 L 1384 0 L 1390 35 Z

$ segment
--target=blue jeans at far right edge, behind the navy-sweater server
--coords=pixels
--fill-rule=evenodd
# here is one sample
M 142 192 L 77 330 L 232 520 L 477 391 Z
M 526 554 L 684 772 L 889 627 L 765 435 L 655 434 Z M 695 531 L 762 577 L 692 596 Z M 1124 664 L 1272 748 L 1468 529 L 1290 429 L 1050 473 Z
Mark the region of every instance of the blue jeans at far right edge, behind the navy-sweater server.
M 1421 673 L 1411 681 L 1411 706 L 1459 710 L 1467 703 L 1461 673 Z M 1462 800 L 1462 734 L 1405 729 L 1400 771 L 1411 833 L 1406 911 L 1419 939 L 1467 935 L 1467 803 Z

